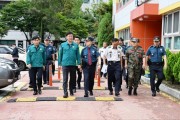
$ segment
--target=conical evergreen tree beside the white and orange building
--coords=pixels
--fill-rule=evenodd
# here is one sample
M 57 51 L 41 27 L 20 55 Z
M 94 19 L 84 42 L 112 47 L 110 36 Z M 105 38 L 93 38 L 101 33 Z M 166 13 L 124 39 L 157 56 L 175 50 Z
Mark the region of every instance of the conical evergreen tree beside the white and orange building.
M 98 27 L 98 45 L 102 46 L 103 42 L 108 42 L 113 38 L 112 16 L 110 13 L 106 13 Z

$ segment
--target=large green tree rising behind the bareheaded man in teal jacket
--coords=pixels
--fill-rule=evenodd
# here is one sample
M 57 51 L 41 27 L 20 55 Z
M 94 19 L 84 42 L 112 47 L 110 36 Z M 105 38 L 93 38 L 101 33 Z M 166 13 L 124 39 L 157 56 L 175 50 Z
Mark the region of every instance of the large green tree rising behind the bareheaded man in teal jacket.
M 46 31 L 59 39 L 67 31 L 73 31 L 81 37 L 87 36 L 86 21 L 80 9 L 82 0 L 32 0 L 32 3 L 42 16 L 38 27 L 42 35 Z

